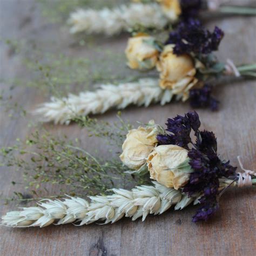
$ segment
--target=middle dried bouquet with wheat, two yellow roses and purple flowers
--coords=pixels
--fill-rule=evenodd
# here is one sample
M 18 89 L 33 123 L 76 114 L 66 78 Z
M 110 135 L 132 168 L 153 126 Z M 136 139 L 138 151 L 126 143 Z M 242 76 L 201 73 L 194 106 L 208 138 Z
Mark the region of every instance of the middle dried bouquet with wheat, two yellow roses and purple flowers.
M 221 63 L 213 55 L 224 32 L 215 27 L 208 31 L 197 19 L 179 24 L 165 42 L 145 33 L 129 38 L 125 54 L 127 65 L 135 70 L 156 68 L 159 79 L 141 78 L 137 82 L 103 84 L 96 91 L 81 92 L 78 96 L 51 98 L 35 111 L 44 122 L 69 124 L 77 115 L 104 113 L 109 109 L 125 109 L 128 105 L 165 105 L 173 98 L 192 107 L 218 108 L 211 96 L 211 80 L 222 76 L 255 77 L 256 64 L 235 66 L 228 59 Z

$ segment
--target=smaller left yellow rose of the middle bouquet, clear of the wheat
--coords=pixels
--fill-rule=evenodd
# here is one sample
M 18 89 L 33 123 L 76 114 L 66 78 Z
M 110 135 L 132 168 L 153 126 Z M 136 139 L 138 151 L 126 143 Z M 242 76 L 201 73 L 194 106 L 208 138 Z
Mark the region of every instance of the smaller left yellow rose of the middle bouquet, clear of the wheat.
M 159 52 L 153 45 L 154 38 L 144 33 L 139 33 L 134 37 L 130 37 L 125 55 L 128 60 L 127 65 L 131 69 L 152 69 L 157 64 Z

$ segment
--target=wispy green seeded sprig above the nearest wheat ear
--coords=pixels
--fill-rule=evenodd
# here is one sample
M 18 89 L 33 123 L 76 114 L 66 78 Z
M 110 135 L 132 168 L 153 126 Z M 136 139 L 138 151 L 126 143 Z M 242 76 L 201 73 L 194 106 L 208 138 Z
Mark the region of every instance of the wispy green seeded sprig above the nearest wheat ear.
M 120 115 L 118 122 L 112 124 L 84 117 L 77 118 L 77 122 L 87 127 L 89 136 L 104 138 L 115 146 L 122 145 L 125 134 L 132 127 Z M 29 196 L 23 190 L 15 192 L 8 200 L 38 200 L 48 191 L 48 184 L 58 187 L 59 194 L 54 197 L 62 197 L 65 193 L 71 196 L 105 194 L 112 187 L 127 188 L 150 182 L 147 176 L 134 177 L 125 173 L 130 170 L 118 157 L 106 160 L 96 154 L 83 149 L 78 139 L 73 142 L 46 130 L 32 132 L 25 141 L 17 139 L 16 145 L 1 149 L 2 166 L 14 167 L 22 173 L 22 184 Z

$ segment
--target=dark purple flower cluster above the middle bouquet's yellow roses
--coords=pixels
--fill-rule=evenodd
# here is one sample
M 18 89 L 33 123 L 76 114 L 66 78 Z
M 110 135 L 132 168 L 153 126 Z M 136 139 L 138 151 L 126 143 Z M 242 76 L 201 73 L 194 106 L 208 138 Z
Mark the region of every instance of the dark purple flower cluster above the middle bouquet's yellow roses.
M 181 22 L 176 31 L 172 31 L 165 44 L 174 44 L 173 52 L 176 55 L 194 53 L 207 55 L 217 51 L 224 32 L 215 26 L 211 33 L 197 20 L 188 19 Z

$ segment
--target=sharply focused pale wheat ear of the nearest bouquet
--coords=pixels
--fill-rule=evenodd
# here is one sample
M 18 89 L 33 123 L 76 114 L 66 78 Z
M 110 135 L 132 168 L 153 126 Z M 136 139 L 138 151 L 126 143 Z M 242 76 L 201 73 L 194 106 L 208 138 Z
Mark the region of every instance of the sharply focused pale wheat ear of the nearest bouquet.
M 144 221 L 148 214 L 161 214 L 172 205 L 181 210 L 196 198 L 188 198 L 180 190 L 167 188 L 157 182 L 153 186 L 138 186 L 133 190 L 113 189 L 111 196 L 90 197 L 91 202 L 82 198 L 69 197 L 60 201 L 42 200 L 38 207 L 23 207 L 22 211 L 8 212 L 2 217 L 2 224 L 10 227 L 45 227 L 78 223 L 78 226 L 95 221 L 103 224 L 115 223 L 119 219 L 130 217 Z

